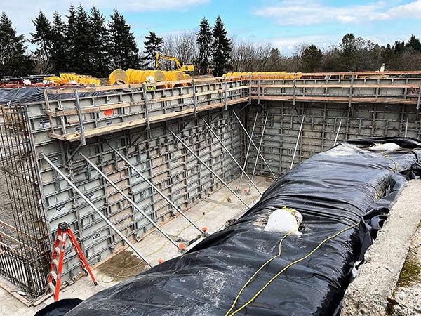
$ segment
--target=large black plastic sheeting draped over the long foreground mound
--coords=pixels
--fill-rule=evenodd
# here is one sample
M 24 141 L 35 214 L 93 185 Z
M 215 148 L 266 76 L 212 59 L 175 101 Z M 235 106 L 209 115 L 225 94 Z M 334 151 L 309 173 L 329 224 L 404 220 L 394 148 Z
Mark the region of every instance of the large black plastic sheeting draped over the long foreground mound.
M 387 141 L 405 149 L 388 154 L 366 150 L 373 142 Z M 354 263 L 408 179 L 420 176 L 417 148 L 419 140 L 410 138 L 365 138 L 316 154 L 276 180 L 225 230 L 178 258 L 100 291 L 66 315 L 225 315 L 248 278 L 277 254 L 283 235 L 263 228 L 269 213 L 282 206 L 302 213 L 302 237 L 286 237 L 281 258 L 246 287 L 237 307 L 323 239 L 360 225 L 288 268 L 236 315 L 338 314 Z

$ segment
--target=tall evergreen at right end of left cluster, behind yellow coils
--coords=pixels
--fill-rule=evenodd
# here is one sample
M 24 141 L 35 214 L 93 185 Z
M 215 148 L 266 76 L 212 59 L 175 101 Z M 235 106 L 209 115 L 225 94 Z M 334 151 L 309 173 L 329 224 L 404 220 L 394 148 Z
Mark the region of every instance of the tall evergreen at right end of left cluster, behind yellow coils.
M 114 10 L 108 22 L 108 48 L 110 68 L 139 68 L 139 50 L 130 26 L 118 11 Z

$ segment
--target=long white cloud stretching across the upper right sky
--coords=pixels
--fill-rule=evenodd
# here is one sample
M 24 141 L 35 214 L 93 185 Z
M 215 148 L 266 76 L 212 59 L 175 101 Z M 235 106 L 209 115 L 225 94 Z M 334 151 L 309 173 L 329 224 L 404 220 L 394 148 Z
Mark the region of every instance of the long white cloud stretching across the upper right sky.
M 420 18 L 421 0 L 391 6 L 383 1 L 352 6 L 326 6 L 314 0 L 281 1 L 254 12 L 273 18 L 279 25 L 314 25 L 326 22 L 363 23 L 367 21 Z

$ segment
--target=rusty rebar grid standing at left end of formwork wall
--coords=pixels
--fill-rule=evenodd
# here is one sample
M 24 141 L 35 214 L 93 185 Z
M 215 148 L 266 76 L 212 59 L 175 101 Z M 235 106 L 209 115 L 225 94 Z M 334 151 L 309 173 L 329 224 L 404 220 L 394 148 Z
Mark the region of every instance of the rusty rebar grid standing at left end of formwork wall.
M 46 289 L 50 242 L 25 107 L 1 107 L 0 137 L 0 274 L 36 297 Z

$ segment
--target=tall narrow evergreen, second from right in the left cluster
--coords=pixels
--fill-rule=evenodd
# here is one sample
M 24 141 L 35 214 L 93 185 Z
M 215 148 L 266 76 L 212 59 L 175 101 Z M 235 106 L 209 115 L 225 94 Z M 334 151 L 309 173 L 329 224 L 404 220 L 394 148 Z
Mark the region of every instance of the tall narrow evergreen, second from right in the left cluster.
M 93 6 L 89 16 L 89 61 L 91 63 L 90 74 L 96 77 L 107 77 L 109 74 L 106 46 L 108 33 L 104 20 L 105 18 L 98 8 Z

